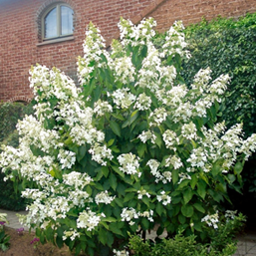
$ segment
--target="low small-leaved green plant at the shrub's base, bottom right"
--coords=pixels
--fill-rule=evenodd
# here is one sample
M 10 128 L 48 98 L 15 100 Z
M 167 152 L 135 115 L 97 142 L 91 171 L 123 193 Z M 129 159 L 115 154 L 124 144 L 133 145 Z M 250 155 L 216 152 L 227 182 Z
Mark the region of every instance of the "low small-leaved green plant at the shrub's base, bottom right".
M 236 251 L 234 234 L 241 229 L 244 222 L 245 217 L 242 214 L 235 216 L 234 212 L 226 211 L 225 218 L 214 222 L 214 229 L 208 229 L 208 243 L 199 243 L 195 235 L 185 237 L 181 230 L 173 239 L 163 238 L 157 243 L 132 235 L 128 249 L 130 255 L 134 256 L 230 256 Z

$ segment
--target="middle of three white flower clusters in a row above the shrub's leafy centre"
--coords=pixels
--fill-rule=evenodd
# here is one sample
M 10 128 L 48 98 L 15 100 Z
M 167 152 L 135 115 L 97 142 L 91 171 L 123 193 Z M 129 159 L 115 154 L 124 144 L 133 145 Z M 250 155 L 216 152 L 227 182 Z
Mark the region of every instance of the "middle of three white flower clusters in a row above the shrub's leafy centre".
M 112 94 L 113 101 L 118 109 L 128 109 L 128 107 L 136 100 L 136 97 L 131 93 L 128 93 L 128 91 L 128 88 L 118 89 Z

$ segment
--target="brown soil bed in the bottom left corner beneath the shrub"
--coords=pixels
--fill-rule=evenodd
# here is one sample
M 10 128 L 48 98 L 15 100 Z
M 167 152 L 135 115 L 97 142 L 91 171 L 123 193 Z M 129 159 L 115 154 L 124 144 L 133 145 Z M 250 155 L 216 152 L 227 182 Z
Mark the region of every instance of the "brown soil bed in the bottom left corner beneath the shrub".
M 53 244 L 40 244 L 37 242 L 36 248 L 35 244 L 31 244 L 31 241 L 36 237 L 35 233 L 23 232 L 19 235 L 15 229 L 5 227 L 5 233 L 10 235 L 10 248 L 3 252 L 0 251 L 0 256 L 73 256 L 69 251 L 68 247 L 63 247 L 59 249 Z

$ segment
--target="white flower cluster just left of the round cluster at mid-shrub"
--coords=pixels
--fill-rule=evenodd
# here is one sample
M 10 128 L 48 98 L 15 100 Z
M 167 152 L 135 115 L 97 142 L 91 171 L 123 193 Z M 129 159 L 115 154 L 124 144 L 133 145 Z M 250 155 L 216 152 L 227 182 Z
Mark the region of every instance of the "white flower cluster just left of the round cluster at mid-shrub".
M 89 149 L 89 152 L 92 153 L 92 159 L 101 165 L 107 165 L 106 158 L 112 160 L 114 157 L 110 148 L 107 148 L 106 145 L 100 145 L 99 143 L 95 143 L 94 146 Z

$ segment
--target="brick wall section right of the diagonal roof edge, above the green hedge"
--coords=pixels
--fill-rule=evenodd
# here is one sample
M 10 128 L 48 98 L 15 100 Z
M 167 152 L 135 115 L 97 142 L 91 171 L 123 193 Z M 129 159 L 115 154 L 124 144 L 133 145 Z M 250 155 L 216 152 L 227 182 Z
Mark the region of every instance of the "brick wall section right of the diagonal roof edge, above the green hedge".
M 198 23 L 202 17 L 212 20 L 221 17 L 240 17 L 256 12 L 255 0 L 165 0 L 149 14 L 157 21 L 157 30 L 166 31 L 175 20 L 184 25 Z

